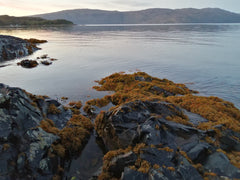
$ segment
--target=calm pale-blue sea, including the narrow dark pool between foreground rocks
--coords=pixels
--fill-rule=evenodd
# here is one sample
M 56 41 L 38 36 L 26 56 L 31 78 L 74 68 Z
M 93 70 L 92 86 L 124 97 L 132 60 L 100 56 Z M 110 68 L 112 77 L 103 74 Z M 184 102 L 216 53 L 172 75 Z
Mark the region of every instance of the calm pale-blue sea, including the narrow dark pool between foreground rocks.
M 0 63 L 1 83 L 33 94 L 86 101 L 106 94 L 91 88 L 94 80 L 140 70 L 240 108 L 240 24 L 0 28 L 0 34 L 48 40 L 31 56 Z M 58 60 L 33 69 L 16 64 L 43 54 Z M 102 155 L 91 136 L 69 174 L 89 177 L 101 166 Z

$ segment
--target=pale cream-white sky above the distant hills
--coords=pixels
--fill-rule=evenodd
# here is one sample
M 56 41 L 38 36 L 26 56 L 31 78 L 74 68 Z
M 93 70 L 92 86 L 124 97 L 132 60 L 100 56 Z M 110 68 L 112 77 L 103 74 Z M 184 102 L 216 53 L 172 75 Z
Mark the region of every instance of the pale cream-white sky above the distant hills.
M 66 9 L 142 10 L 217 7 L 240 13 L 240 0 L 0 0 L 0 15 L 25 16 Z

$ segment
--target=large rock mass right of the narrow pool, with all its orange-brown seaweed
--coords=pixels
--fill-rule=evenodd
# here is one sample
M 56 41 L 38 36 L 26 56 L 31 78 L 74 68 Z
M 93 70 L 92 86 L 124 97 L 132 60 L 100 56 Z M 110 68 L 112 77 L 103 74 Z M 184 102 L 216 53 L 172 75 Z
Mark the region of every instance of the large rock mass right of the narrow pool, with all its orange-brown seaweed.
M 134 78 L 125 82 L 126 76 Z M 194 96 L 186 87 L 176 93 L 174 83 L 162 85 L 168 94 L 156 94 L 148 83 L 160 80 L 126 76 L 109 76 L 97 87 L 115 91 L 111 98 L 123 91 L 128 97 L 96 117 L 96 132 L 109 150 L 99 179 L 240 178 L 240 111 L 232 103 Z M 101 100 L 88 105 L 93 102 Z

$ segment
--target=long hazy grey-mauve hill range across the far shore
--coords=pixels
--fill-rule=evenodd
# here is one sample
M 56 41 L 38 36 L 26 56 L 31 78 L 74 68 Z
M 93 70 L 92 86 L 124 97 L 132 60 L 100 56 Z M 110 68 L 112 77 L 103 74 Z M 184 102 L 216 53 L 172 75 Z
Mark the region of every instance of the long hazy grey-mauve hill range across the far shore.
M 159 24 L 159 23 L 239 23 L 240 14 L 218 8 L 146 9 L 141 11 L 64 10 L 35 15 L 49 20 L 57 18 L 75 24 Z

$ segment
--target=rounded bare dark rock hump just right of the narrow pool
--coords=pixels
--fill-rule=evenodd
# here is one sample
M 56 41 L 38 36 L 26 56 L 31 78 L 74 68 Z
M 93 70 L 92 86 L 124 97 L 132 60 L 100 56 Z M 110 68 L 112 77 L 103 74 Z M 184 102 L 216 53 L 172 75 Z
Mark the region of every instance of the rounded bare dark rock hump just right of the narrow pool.
M 153 114 L 160 118 L 152 116 Z M 182 111 L 178 107 L 166 102 L 134 101 L 108 112 L 104 118 L 106 124 L 97 124 L 96 130 L 99 134 L 104 134 L 102 138 L 109 149 L 115 146 L 127 147 L 137 142 L 147 144 L 174 142 L 176 134 L 190 137 L 201 133 L 193 127 L 164 119 L 181 114 Z M 102 128 L 103 126 L 105 128 Z M 164 127 L 170 130 L 165 130 Z M 106 134 L 108 132 L 114 132 L 117 140 Z M 176 148 L 176 145 L 171 144 Z

